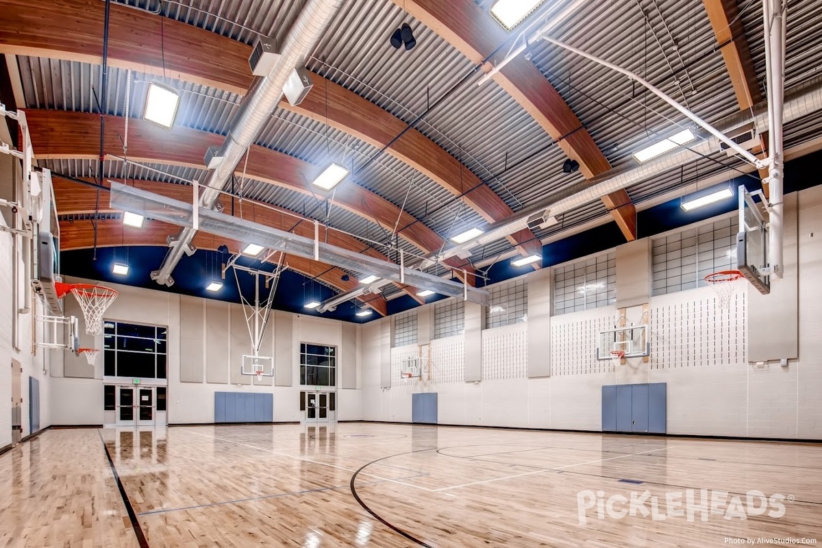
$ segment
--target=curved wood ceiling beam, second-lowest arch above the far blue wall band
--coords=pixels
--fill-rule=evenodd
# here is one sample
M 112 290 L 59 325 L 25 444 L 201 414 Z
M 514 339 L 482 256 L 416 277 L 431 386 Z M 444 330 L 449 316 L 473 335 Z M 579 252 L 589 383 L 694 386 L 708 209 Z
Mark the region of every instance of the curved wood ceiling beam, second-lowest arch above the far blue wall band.
M 55 173 L 52 174 L 52 179 L 54 199 L 57 201 L 58 214 L 61 216 L 72 214 L 94 214 L 95 212 L 109 213 L 118 211 L 114 210 L 111 205 L 109 205 L 108 196 L 102 196 L 98 201 L 98 191 L 95 188 L 85 187 L 77 182 L 63 179 Z M 85 177 L 81 180 L 91 182 L 91 179 L 86 179 Z M 108 182 L 104 182 L 103 184 L 105 187 L 108 187 Z M 183 202 L 191 202 L 192 200 L 192 187 L 188 187 L 186 185 L 177 185 L 168 182 L 132 180 L 129 180 L 128 184 L 129 186 L 154 192 L 155 194 L 166 196 L 168 198 L 172 198 L 173 200 L 180 200 Z M 223 212 L 225 214 L 252 220 L 255 223 L 264 224 L 268 227 L 298 234 L 299 236 L 310 238 L 314 237 L 313 221 L 289 210 L 267 204 L 263 205 L 256 200 L 250 199 L 242 200 L 242 205 L 239 203 L 233 205 L 231 198 L 228 196 L 222 196 L 220 201 L 224 205 Z M 320 239 L 323 242 L 330 243 L 332 246 L 342 247 L 349 251 L 355 251 L 357 253 L 363 253 L 363 255 L 393 262 L 387 256 L 383 255 L 379 251 L 376 251 L 376 249 L 360 242 L 357 238 L 350 236 L 347 233 L 340 232 L 339 230 L 335 230 L 334 228 L 326 228 L 321 225 Z M 72 242 L 66 242 L 66 244 L 72 245 Z M 422 297 L 417 296 L 417 288 L 413 288 L 402 283 L 395 283 L 395 286 L 413 297 L 415 301 L 420 304 L 425 304 L 425 300 Z

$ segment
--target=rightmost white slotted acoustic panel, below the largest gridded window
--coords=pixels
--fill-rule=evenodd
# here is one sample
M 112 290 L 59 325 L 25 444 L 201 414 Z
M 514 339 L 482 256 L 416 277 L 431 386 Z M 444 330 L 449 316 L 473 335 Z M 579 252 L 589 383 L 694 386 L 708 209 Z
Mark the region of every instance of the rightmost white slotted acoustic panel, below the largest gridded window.
M 719 308 L 709 290 L 693 293 L 679 302 L 670 297 L 651 299 L 651 368 L 746 363 L 746 292 L 732 295 L 730 310 Z

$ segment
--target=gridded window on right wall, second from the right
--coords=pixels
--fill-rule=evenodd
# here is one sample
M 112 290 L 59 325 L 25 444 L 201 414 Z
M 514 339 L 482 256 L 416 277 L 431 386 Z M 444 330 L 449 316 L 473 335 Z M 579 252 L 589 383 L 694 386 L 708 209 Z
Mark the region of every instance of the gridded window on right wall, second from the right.
M 617 302 L 617 259 L 606 253 L 554 269 L 554 314 Z

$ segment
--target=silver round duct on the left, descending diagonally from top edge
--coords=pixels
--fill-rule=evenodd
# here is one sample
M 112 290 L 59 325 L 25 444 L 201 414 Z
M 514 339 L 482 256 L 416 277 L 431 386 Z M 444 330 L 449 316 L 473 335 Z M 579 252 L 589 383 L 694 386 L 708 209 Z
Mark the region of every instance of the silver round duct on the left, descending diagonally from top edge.
M 317 42 L 325 34 L 331 18 L 339 9 L 342 0 L 308 0 L 302 12 L 285 37 L 279 61 L 268 76 L 256 85 L 240 105 L 229 134 L 223 145 L 215 154 L 220 158 L 219 165 L 203 183 L 205 191 L 200 196 L 200 205 L 212 208 L 219 196 L 219 191 L 228 184 L 231 175 L 237 168 L 246 150 L 256 140 L 262 128 L 268 122 L 271 113 L 283 98 L 283 86 L 295 67 L 302 67 L 305 58 L 312 53 Z M 172 285 L 171 273 L 177 266 L 183 253 L 191 254 L 192 239 L 196 234 L 193 228 L 182 228 L 176 237 L 171 239 L 171 249 L 158 270 L 151 273 L 157 283 Z

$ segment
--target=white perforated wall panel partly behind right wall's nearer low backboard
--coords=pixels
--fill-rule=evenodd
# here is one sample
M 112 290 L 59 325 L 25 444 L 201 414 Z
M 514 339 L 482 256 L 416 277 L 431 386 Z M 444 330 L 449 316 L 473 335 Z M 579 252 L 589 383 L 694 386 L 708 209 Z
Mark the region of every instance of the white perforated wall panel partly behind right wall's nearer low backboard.
M 551 375 L 607 373 L 611 360 L 597 360 L 599 333 L 617 325 L 612 307 L 554 316 L 551 322 Z M 653 348 L 651 348 L 653 352 Z

